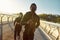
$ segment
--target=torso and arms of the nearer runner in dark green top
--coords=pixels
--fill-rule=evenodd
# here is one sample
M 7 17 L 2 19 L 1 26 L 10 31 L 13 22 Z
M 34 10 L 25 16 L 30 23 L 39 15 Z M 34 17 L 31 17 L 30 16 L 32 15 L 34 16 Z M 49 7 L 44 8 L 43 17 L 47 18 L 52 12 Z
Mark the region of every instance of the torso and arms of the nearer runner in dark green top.
M 30 20 L 31 22 L 27 24 Z M 33 15 L 31 12 L 27 12 L 22 19 L 22 25 L 25 25 L 26 31 L 35 30 L 40 25 L 40 18 L 36 14 Z

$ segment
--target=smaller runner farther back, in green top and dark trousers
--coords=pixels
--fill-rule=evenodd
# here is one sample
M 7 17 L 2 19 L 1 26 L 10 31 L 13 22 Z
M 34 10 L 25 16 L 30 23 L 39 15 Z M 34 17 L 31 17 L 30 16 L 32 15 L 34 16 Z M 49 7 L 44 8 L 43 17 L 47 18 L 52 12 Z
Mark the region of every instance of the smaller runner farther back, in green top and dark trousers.
M 17 17 L 14 21 L 14 25 L 15 25 L 14 40 L 16 40 L 16 37 L 18 37 L 18 39 L 20 39 L 20 31 L 22 29 L 22 25 L 21 25 L 22 16 L 23 16 L 23 14 L 20 13 L 19 17 Z

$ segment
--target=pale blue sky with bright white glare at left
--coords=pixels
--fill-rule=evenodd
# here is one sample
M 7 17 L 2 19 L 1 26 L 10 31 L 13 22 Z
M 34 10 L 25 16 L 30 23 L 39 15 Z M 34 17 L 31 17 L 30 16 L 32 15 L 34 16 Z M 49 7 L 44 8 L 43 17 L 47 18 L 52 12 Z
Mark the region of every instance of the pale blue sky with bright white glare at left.
M 60 15 L 60 0 L 0 0 L 0 13 L 13 14 L 30 11 L 30 5 L 37 5 L 37 14 L 57 14 Z

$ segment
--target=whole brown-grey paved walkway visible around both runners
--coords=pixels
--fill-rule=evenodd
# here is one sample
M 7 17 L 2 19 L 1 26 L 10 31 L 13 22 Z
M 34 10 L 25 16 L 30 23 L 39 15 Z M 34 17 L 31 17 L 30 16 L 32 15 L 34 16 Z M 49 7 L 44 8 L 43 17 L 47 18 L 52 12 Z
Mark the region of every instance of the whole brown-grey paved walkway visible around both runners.
M 11 29 L 14 29 L 13 24 L 10 25 L 3 25 L 3 40 L 14 40 L 14 31 Z M 24 32 L 24 27 L 22 28 L 22 31 L 20 33 L 21 35 L 21 40 L 23 40 L 23 32 Z M 41 31 L 40 28 L 37 28 L 35 33 L 34 33 L 34 40 L 49 40 L 45 34 Z

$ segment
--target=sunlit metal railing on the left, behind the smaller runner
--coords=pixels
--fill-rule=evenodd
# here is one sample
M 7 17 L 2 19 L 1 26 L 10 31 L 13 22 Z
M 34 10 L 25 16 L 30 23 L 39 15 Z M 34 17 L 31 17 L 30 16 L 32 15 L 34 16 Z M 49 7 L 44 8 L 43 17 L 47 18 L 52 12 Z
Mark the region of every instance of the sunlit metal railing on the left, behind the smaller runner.
M 11 30 L 13 30 L 10 23 L 13 23 L 16 17 L 16 15 L 0 14 L 0 40 L 3 40 L 3 25 L 8 24 Z

